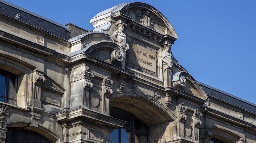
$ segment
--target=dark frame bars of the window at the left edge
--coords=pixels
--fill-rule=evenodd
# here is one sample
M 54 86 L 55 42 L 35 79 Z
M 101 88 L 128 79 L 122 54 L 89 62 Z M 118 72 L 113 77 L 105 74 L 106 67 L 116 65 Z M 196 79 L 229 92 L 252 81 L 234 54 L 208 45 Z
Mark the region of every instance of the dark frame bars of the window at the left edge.
M 5 96 L 0 95 L 0 97 L 5 98 L 5 103 L 9 103 L 9 99 L 11 99 L 11 100 L 15 101 L 14 105 L 17 105 L 17 81 L 18 81 L 18 77 L 16 75 L 8 72 L 8 71 L 3 70 L 3 69 L 0 69 L 0 72 L 5 73 Z M 15 97 L 16 97 L 15 99 L 9 97 L 9 78 L 10 78 L 10 76 L 14 77 L 14 79 L 15 79 L 15 83 L 14 83 L 14 90 L 15 90 L 14 93 L 15 93 Z

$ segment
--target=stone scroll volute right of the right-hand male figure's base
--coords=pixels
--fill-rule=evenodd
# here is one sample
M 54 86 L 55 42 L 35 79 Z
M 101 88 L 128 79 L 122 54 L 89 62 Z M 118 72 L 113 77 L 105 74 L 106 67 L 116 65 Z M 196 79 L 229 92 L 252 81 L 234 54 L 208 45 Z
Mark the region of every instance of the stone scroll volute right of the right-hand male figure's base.
M 182 75 L 183 72 L 172 73 L 172 86 L 176 89 L 186 85 L 186 78 Z

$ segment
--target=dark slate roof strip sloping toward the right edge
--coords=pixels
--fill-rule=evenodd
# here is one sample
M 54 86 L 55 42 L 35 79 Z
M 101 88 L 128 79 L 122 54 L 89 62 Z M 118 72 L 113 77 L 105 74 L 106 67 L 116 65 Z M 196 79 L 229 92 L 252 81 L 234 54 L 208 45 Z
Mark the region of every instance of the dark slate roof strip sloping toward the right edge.
M 248 112 L 251 112 L 253 114 L 256 114 L 256 104 L 253 104 L 249 101 L 246 101 L 242 98 L 236 97 L 234 95 L 231 95 L 229 93 L 226 93 L 224 91 L 221 91 L 219 89 L 213 88 L 211 86 L 208 86 L 206 84 L 203 84 L 201 82 L 198 82 L 205 93 L 208 96 L 211 96 L 213 98 L 219 99 L 221 101 L 227 102 L 229 104 L 232 104 L 236 107 L 242 108 Z

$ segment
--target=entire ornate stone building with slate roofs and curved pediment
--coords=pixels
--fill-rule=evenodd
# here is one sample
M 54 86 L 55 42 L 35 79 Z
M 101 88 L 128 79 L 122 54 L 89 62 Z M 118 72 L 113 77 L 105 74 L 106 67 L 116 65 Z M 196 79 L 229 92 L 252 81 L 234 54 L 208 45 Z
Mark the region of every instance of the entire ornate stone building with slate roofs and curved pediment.
M 90 22 L 0 0 L 1 143 L 256 143 L 256 105 L 179 65 L 157 9 L 123 3 Z

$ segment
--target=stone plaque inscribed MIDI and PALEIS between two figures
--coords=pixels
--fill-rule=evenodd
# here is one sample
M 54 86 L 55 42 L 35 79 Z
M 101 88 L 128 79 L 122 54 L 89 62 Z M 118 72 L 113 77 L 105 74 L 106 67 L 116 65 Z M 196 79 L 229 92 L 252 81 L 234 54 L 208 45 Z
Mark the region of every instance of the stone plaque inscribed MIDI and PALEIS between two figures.
M 157 51 L 142 47 L 140 45 L 133 45 L 130 49 L 130 63 L 156 73 Z

